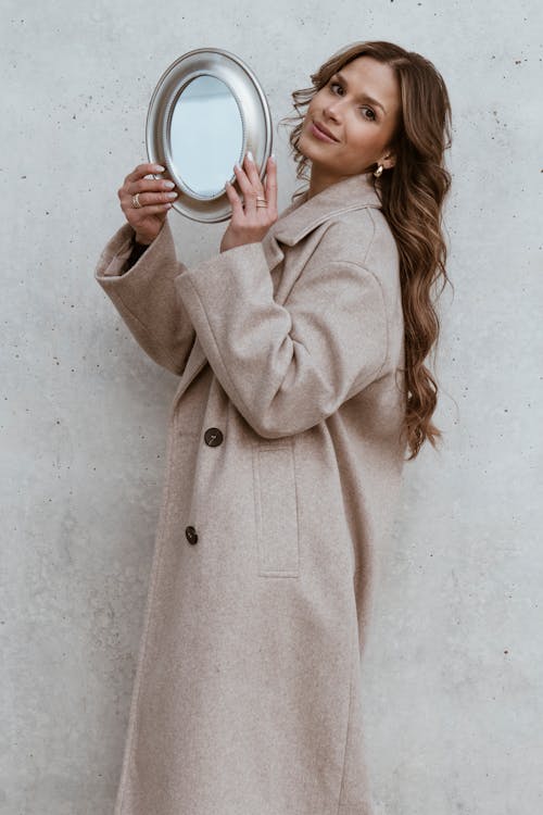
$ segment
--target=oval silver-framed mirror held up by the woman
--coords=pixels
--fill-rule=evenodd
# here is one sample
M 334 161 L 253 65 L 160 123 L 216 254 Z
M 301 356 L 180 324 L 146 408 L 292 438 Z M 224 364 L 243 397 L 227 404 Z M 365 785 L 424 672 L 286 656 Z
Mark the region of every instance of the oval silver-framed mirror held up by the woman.
M 235 54 L 200 48 L 180 57 L 161 76 L 146 127 L 150 162 L 162 164 L 176 185 L 173 209 L 194 221 L 231 216 L 225 192 L 248 150 L 264 176 L 272 153 L 272 115 L 253 72 Z

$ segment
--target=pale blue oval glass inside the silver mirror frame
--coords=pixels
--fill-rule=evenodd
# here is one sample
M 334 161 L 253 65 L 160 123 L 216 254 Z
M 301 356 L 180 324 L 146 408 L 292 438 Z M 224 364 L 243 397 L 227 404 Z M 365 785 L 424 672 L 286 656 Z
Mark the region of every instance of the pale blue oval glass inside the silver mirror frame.
M 172 115 L 171 150 L 179 178 L 199 196 L 219 195 L 242 146 L 241 113 L 228 85 L 209 74 L 197 76 Z

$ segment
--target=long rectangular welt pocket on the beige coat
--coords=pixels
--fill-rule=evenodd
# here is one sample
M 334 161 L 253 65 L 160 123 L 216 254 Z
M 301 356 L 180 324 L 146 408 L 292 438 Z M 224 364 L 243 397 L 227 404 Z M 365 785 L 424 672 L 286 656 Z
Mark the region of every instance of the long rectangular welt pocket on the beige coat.
M 294 451 L 290 442 L 253 448 L 258 574 L 299 577 L 300 543 Z

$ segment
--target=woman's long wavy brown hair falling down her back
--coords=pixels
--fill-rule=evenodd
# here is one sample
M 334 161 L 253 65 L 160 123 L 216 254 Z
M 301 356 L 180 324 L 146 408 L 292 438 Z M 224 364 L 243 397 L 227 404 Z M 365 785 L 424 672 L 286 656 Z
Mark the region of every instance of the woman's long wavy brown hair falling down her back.
M 292 92 L 298 116 L 280 124 L 298 122 L 289 141 L 296 162 L 296 177 L 310 180 L 311 160 L 298 150 L 304 112 L 320 90 L 348 62 L 372 57 L 393 68 L 401 89 L 401 112 L 392 143 L 396 154 L 393 167 L 375 177 L 374 187 L 382 212 L 394 235 L 400 253 L 400 277 L 405 326 L 405 417 L 402 436 L 415 459 L 428 439 L 437 448 L 442 434 L 431 417 L 438 402 L 438 384 L 425 365 L 433 348 L 438 349 L 440 319 L 435 305 L 445 284 L 451 284 L 445 262 L 447 247 L 442 230 L 442 206 L 451 186 L 444 166 L 444 151 L 451 147 L 451 103 L 445 83 L 434 65 L 414 51 L 382 40 L 354 42 L 311 74 L 310 88 Z M 371 170 L 377 170 L 377 164 Z M 302 195 L 303 188 L 292 196 Z M 441 290 L 437 291 L 439 280 Z

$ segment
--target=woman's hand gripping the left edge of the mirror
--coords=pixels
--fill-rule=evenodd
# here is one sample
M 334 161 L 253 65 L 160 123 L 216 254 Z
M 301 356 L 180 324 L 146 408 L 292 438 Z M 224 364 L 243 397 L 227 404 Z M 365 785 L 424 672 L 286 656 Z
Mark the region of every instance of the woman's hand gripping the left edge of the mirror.
M 172 201 L 177 197 L 175 184 L 163 178 L 146 176 L 164 173 L 160 164 L 138 164 L 117 190 L 126 220 L 136 233 L 138 243 L 152 243 L 166 221 Z M 139 192 L 140 208 L 132 206 L 132 196 Z M 172 195 L 173 193 L 173 195 Z

